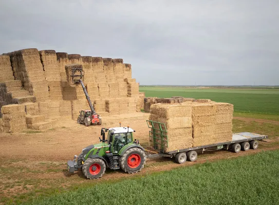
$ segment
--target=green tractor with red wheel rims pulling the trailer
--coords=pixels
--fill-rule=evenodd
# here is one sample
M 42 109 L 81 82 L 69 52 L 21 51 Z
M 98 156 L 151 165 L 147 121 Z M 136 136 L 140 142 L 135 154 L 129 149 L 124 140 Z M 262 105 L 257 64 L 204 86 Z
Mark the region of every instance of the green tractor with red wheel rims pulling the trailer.
M 107 137 L 105 133 L 107 132 Z M 82 169 L 88 179 L 102 177 L 106 168 L 122 169 L 127 173 L 141 171 L 145 164 L 144 148 L 134 139 L 135 131 L 129 127 L 102 128 L 100 144 L 90 145 L 82 153 L 67 162 L 68 171 Z

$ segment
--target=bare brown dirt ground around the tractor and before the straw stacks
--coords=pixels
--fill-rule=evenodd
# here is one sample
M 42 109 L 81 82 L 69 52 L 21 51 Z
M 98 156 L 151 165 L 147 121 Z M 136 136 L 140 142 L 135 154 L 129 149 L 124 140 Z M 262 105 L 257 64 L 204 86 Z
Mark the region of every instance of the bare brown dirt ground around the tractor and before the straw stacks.
M 86 180 L 81 171 L 75 174 L 67 172 L 67 160 L 80 154 L 84 147 L 99 142 L 101 127 L 118 127 L 121 122 L 122 126 L 128 125 L 136 130 L 135 138 L 139 139 L 141 145 L 146 146 L 148 116 L 148 113 L 107 116 L 103 117 L 102 126 L 90 127 L 78 125 L 75 120 L 63 119 L 57 124 L 57 128 L 39 133 L 0 133 L 0 192 L 3 193 L 0 195 L 0 203 L 6 203 L 10 199 L 26 200 L 37 195 L 65 191 L 73 186 L 94 185 L 104 180 L 138 177 L 155 171 L 279 149 L 279 137 L 275 137 L 268 139 L 270 143 L 260 142 L 257 150 L 241 151 L 238 154 L 224 150 L 206 152 L 200 154 L 196 162 L 183 165 L 178 165 L 170 158 L 149 159 L 144 169 L 137 174 L 107 170 L 101 179 Z M 250 119 L 241 117 L 240 120 Z M 277 125 L 277 122 L 275 124 Z

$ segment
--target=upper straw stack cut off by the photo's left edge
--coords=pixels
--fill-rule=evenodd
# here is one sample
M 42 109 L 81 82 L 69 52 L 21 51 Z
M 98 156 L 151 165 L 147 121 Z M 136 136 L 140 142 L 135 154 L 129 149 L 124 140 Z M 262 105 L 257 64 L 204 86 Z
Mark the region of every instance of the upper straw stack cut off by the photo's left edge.
M 0 83 L 8 80 L 14 80 L 10 56 L 0 55 L 0 73 Z

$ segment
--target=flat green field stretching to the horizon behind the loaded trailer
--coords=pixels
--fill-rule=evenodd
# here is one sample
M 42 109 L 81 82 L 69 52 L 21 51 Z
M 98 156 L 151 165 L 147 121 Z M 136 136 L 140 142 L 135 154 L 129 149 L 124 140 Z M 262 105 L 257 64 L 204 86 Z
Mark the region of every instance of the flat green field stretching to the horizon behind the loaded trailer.
M 211 99 L 234 105 L 235 112 L 279 115 L 278 89 L 197 89 L 181 87 L 140 87 L 146 97 L 183 96 Z

